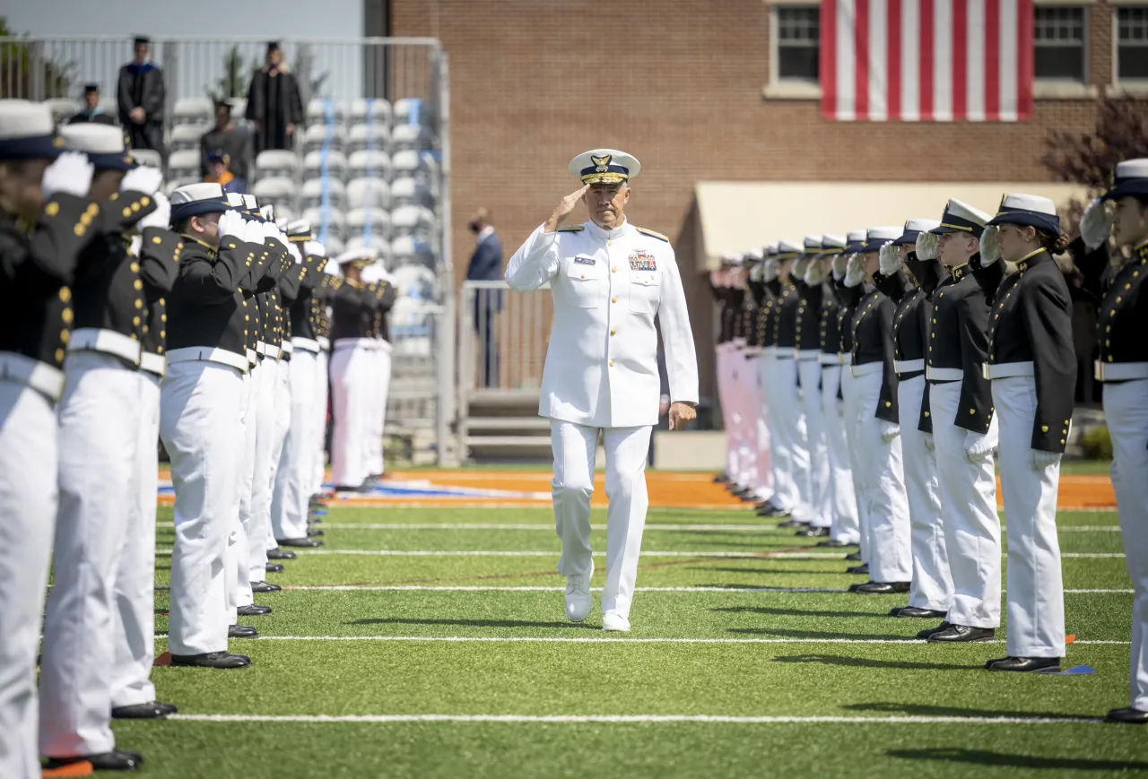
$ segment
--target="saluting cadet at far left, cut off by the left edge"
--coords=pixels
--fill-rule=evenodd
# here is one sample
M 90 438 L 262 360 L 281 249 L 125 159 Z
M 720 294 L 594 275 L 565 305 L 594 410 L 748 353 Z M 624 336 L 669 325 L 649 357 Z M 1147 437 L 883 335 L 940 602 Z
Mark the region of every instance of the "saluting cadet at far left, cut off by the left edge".
M 87 198 L 92 164 L 62 148 L 46 106 L 0 100 L 0 776 L 13 779 L 40 777 L 36 653 L 57 507 L 55 405 L 69 285 L 100 217 Z

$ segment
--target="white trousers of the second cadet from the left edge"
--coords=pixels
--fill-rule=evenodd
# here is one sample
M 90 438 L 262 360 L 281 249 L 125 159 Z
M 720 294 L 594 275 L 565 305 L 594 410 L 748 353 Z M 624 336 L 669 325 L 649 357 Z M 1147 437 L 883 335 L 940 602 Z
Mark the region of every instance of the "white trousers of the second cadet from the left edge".
M 110 355 L 72 352 L 64 374 L 54 577 L 40 661 L 40 751 L 49 757 L 94 755 L 116 746 L 115 590 L 139 486 L 133 478 L 135 368 Z

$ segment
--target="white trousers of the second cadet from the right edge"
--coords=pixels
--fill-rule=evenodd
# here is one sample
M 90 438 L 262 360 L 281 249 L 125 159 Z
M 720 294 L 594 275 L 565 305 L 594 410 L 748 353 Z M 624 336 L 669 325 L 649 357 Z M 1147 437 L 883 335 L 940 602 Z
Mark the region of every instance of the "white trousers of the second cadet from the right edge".
M 1008 531 L 1004 652 L 1009 657 L 1063 657 L 1064 581 L 1056 537 L 1061 465 L 1057 462 L 1039 473 L 1032 467 L 1035 380 L 1032 376 L 994 379 L 992 387 L 1000 430 L 998 457 Z

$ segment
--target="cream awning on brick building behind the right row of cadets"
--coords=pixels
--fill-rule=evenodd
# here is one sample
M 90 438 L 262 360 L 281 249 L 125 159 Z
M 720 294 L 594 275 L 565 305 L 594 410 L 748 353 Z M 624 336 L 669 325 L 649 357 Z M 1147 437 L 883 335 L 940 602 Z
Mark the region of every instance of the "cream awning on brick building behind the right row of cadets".
M 695 187 L 701 226 L 698 272 L 779 239 L 845 235 L 851 229 L 938 219 L 949 197 L 995 213 L 1008 192 L 1044 195 L 1057 205 L 1084 198 L 1084 187 L 1049 182 L 700 181 Z

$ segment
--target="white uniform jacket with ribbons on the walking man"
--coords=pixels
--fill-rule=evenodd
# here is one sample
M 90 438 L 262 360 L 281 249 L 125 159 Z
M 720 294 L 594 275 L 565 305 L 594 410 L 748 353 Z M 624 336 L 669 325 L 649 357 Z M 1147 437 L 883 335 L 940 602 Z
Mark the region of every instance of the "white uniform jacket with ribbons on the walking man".
M 698 360 L 674 249 L 622 223 L 538 227 L 506 266 L 506 283 L 550 283 L 554 324 L 538 414 L 598 428 L 657 424 L 661 326 L 673 400 L 698 402 Z

